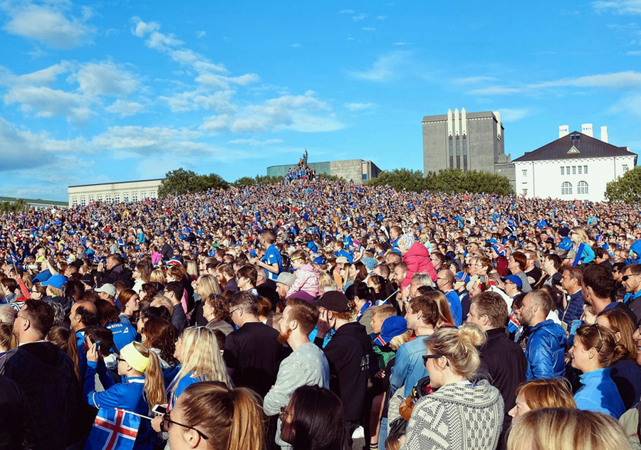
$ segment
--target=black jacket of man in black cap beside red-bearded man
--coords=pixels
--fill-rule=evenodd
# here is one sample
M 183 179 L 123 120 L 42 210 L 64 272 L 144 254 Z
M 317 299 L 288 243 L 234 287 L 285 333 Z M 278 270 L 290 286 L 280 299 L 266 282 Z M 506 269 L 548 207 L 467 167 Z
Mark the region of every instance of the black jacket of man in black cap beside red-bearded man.
M 323 339 L 314 341 L 319 347 Z M 358 322 L 340 326 L 323 349 L 330 367 L 330 390 L 343 402 L 346 422 L 360 422 L 368 387 L 372 341 Z

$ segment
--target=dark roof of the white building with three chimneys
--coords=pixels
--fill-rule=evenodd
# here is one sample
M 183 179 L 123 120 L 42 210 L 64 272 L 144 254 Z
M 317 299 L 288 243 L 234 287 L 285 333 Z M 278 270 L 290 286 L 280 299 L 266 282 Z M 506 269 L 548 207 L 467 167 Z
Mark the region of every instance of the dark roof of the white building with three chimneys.
M 571 132 L 567 136 L 550 142 L 550 144 L 526 152 L 521 158 L 514 159 L 512 162 L 608 158 L 611 156 L 637 156 L 637 154 L 629 151 L 627 147 L 617 147 L 587 134 Z

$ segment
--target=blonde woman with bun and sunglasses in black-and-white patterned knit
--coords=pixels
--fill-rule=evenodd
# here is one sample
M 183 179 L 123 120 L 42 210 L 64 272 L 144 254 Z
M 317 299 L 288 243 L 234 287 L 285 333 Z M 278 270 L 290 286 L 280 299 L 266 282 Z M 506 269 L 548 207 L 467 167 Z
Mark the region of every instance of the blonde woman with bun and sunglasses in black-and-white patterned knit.
M 403 450 L 494 450 L 503 425 L 503 397 L 486 380 L 474 382 L 485 333 L 473 323 L 441 328 L 423 355 L 436 392 L 412 409 Z

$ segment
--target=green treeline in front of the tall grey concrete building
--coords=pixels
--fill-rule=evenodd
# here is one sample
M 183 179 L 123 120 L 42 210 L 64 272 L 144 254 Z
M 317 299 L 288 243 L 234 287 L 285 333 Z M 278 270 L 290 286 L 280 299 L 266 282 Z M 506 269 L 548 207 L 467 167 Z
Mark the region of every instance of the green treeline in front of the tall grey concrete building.
M 494 193 L 510 195 L 514 191 L 507 177 L 482 171 L 464 172 L 458 168 L 446 168 L 436 172 L 411 171 L 397 168 L 382 171 L 377 178 L 365 183 L 367 186 L 391 186 L 397 191 L 431 191 L 443 193 Z

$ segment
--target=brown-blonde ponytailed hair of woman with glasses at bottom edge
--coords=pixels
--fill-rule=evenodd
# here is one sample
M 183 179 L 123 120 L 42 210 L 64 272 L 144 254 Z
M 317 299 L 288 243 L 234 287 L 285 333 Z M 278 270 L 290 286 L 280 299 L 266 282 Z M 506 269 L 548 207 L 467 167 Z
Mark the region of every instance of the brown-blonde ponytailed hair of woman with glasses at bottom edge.
M 263 450 L 265 416 L 256 392 L 205 381 L 189 385 L 178 401 L 182 422 L 207 436 L 207 448 Z

